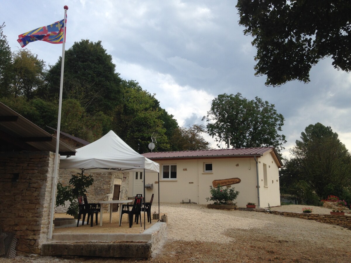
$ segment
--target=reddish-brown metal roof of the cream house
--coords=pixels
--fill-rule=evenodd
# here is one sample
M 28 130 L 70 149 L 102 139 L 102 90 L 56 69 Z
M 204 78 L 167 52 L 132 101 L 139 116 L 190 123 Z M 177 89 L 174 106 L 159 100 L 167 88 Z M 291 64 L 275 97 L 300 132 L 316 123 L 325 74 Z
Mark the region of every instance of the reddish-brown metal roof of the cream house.
M 163 159 L 194 159 L 194 158 L 228 158 L 228 157 L 253 157 L 262 156 L 267 151 L 274 153 L 276 161 L 283 166 L 277 151 L 274 147 L 256 147 L 256 148 L 239 148 L 239 149 L 212 149 L 212 150 L 195 150 L 195 151 L 157 151 L 145 153 L 143 156 L 150 160 Z

